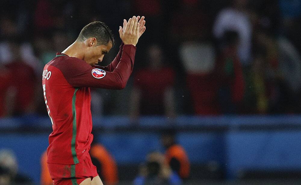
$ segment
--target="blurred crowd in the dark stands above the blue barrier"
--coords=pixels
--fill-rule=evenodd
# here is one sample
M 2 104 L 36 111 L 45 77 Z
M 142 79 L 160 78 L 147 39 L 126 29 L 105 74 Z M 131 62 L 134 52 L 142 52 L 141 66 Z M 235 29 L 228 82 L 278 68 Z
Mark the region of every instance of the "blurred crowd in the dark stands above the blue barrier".
M 144 15 L 122 91 L 92 89 L 92 115 L 301 113 L 301 0 L 2 0 L 0 117 L 47 115 L 42 69 L 98 20 Z

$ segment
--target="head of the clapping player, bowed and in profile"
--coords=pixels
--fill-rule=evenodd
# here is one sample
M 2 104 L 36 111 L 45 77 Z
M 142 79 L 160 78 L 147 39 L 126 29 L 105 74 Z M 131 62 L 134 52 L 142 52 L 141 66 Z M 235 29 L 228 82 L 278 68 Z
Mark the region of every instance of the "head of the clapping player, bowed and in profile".
M 82 29 L 76 42 L 82 42 L 84 45 L 83 60 L 94 66 L 103 60 L 115 41 L 110 28 L 105 23 L 95 21 Z

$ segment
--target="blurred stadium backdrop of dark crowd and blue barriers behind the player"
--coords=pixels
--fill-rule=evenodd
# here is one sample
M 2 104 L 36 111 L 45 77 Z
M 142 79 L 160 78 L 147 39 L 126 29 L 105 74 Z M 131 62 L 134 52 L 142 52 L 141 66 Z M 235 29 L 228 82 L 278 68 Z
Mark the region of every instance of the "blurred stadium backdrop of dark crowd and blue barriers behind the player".
M 0 149 L 34 184 L 51 132 L 43 66 L 95 20 L 115 34 L 107 65 L 118 26 L 132 15 L 144 15 L 147 30 L 127 87 L 92 93 L 96 140 L 115 158 L 120 184 L 132 182 L 147 153 L 164 152 L 166 128 L 187 151 L 187 184 L 299 183 L 300 0 L 1 0 L 0 11 Z M 145 70 L 154 75 L 142 84 Z M 159 92 L 160 102 L 148 105 L 143 98 L 156 97 L 142 94 L 137 106 L 139 88 Z M 172 106 L 162 103 L 166 89 Z

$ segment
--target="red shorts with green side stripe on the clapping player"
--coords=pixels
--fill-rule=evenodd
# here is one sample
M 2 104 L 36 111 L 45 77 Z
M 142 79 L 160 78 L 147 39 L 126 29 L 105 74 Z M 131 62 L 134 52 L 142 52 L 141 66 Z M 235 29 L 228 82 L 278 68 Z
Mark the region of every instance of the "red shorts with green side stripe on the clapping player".
M 75 165 L 48 163 L 50 177 L 54 185 L 76 185 L 87 178 L 98 176 L 96 167 L 92 164 L 90 155 Z

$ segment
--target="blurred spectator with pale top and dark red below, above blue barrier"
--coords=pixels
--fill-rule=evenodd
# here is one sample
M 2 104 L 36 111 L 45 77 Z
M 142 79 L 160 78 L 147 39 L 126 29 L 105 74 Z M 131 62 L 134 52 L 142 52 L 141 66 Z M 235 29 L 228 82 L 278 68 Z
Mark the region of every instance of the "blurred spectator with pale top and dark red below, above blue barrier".
M 210 42 L 185 42 L 180 46 L 179 54 L 185 67 L 194 113 L 219 114 L 218 84 L 214 73 L 216 52 L 213 45 Z

